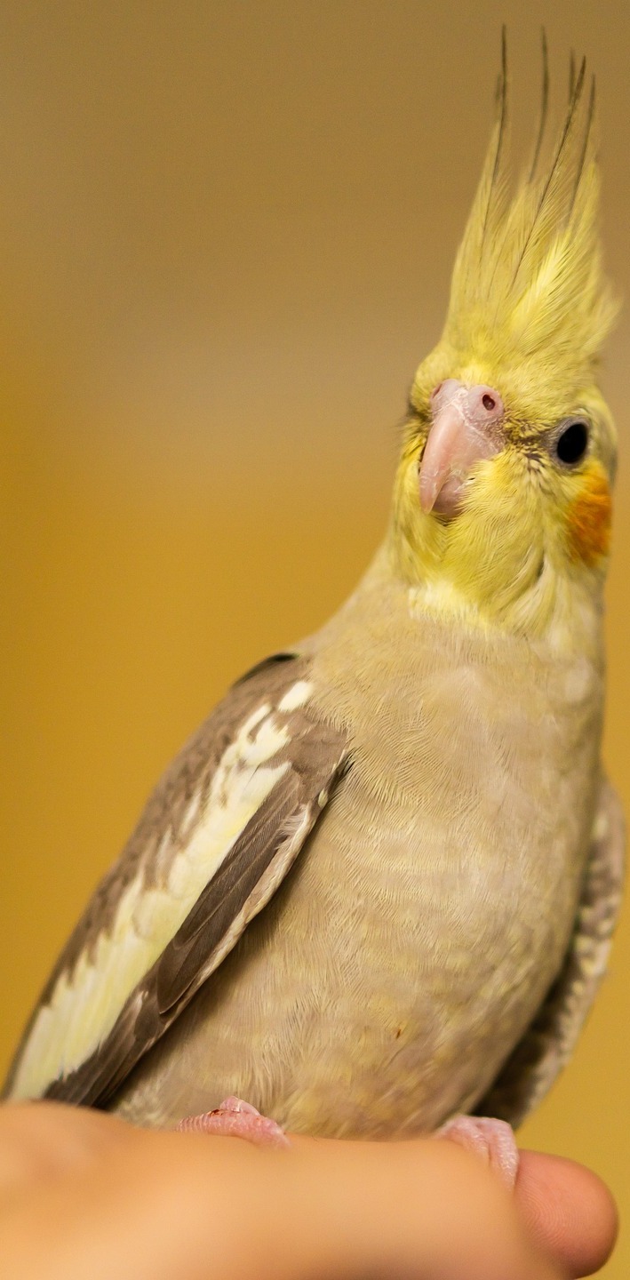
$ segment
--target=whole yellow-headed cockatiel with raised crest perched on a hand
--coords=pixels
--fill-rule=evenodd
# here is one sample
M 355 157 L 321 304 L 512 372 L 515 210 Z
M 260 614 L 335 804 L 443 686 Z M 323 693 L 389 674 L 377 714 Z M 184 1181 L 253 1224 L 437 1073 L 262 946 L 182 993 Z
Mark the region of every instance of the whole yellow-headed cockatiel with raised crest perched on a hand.
M 599 756 L 615 305 L 584 64 L 547 165 L 544 88 L 513 191 L 505 58 L 497 101 L 384 543 L 166 771 L 6 1097 L 405 1137 L 517 1124 L 571 1053 L 624 845 Z

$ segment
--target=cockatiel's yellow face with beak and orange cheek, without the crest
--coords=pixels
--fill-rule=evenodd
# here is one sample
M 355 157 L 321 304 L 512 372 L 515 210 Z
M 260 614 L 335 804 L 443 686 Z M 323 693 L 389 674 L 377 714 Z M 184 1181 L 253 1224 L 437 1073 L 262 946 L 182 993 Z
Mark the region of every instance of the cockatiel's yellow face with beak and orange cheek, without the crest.
M 438 348 L 414 383 L 394 490 L 400 567 L 440 607 L 540 635 L 599 596 L 613 471 L 594 385 Z

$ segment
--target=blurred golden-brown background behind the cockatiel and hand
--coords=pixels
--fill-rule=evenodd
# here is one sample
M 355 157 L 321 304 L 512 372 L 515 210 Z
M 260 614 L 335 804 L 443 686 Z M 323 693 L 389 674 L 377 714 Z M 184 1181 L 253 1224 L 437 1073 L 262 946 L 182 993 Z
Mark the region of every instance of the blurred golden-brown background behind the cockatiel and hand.
M 387 517 L 439 334 L 501 22 L 516 140 L 599 84 L 607 260 L 627 294 L 626 0 L 3 0 L 0 1069 L 159 772 L 248 664 L 316 627 Z M 606 760 L 630 813 L 629 319 Z M 524 1144 L 629 1224 L 630 927 Z

